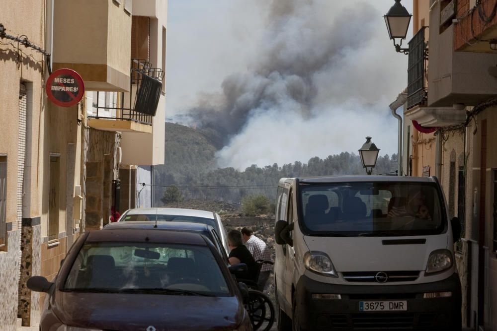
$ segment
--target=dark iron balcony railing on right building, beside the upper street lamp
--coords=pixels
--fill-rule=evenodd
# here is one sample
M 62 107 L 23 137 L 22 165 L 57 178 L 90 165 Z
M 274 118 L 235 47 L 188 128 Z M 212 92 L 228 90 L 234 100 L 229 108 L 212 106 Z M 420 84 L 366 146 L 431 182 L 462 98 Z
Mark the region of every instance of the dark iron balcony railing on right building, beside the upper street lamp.
M 426 104 L 428 87 L 426 69 L 428 64 L 428 47 L 424 41 L 426 27 L 422 27 L 409 41 L 409 65 L 407 85 L 407 108 Z

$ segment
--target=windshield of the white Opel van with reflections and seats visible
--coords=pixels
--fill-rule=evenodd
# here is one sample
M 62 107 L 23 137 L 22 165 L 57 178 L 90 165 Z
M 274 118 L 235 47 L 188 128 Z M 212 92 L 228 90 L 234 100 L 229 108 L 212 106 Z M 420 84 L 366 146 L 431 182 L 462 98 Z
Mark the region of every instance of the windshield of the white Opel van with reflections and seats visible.
M 432 183 L 300 184 L 300 217 L 310 235 L 440 234 L 443 200 Z

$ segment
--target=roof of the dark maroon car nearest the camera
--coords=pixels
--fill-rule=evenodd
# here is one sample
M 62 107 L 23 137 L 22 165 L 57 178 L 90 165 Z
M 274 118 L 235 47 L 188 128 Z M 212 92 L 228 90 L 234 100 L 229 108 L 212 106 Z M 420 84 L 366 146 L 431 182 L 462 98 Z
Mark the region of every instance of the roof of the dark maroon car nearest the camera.
M 148 229 L 93 230 L 88 232 L 86 242 L 144 242 L 207 246 L 204 237 L 199 233 Z

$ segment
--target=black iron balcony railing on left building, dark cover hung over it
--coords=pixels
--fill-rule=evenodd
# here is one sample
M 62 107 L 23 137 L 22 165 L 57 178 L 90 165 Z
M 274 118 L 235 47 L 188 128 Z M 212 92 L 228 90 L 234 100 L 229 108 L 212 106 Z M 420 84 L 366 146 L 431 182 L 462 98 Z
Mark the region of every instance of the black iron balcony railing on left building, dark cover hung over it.
M 162 93 L 164 71 L 153 68 L 150 62 L 132 59 L 130 72 L 130 92 L 96 92 L 95 115 L 88 118 L 133 121 L 152 125 L 153 117 L 157 111 L 159 98 Z M 100 95 L 104 94 L 103 105 Z M 109 95 L 113 96 L 113 103 L 109 104 Z M 107 116 L 108 113 L 110 116 Z M 112 114 L 112 113 L 115 113 Z

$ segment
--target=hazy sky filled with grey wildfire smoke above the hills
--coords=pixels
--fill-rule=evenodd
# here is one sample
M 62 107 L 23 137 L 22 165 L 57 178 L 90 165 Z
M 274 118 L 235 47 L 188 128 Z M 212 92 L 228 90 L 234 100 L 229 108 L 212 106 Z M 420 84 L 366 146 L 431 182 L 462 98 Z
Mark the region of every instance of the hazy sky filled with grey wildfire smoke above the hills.
M 397 152 L 388 105 L 408 57 L 383 18 L 394 0 L 168 2 L 166 121 L 216 132 L 220 167 L 357 154 L 367 135 Z

